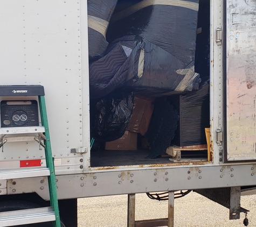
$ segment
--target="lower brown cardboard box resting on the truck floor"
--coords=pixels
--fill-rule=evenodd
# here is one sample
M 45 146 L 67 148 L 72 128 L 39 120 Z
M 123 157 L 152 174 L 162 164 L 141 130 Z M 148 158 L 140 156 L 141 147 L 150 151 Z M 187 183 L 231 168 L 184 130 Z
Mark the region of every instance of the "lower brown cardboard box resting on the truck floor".
M 124 135 L 114 141 L 106 142 L 105 150 L 137 150 L 137 133 L 126 131 Z

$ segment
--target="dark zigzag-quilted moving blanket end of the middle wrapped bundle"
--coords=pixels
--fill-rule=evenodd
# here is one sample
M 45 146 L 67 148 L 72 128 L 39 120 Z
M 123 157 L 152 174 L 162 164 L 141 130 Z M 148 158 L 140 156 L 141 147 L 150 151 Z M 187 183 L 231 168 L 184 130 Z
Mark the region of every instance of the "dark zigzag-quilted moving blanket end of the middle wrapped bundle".
M 105 56 L 89 65 L 90 97 L 103 97 L 126 81 L 134 36 L 109 44 Z

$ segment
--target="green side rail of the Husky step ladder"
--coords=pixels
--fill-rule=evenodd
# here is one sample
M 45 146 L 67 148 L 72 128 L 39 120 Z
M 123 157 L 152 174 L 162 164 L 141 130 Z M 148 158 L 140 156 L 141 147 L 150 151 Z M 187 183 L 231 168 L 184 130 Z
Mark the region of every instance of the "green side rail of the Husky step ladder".
M 48 185 L 49 185 L 49 194 L 50 194 L 50 203 L 53 211 L 55 212 L 56 220 L 53 221 L 53 227 L 60 227 L 60 216 L 59 216 L 59 205 L 58 205 L 58 196 L 57 196 L 57 186 L 56 186 L 56 176 L 54 171 L 54 162 L 52 158 L 52 148 L 50 140 L 49 125 L 46 113 L 46 104 L 45 97 L 38 96 L 39 109 L 41 115 L 41 124 L 45 127 L 45 160 L 46 167 L 50 169 L 50 175 L 48 176 Z

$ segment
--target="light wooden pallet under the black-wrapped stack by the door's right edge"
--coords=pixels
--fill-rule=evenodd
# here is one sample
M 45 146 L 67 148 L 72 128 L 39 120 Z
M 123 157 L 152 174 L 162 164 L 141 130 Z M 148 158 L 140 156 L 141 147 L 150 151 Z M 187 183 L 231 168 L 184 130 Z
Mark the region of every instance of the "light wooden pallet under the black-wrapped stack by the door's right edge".
M 182 158 L 182 151 L 191 151 L 190 159 Z M 193 151 L 207 151 L 207 144 L 205 145 L 193 145 L 193 146 L 169 146 L 165 153 L 169 154 L 172 158 L 169 160 L 172 162 L 188 162 L 188 161 L 209 161 L 209 157 L 192 159 Z

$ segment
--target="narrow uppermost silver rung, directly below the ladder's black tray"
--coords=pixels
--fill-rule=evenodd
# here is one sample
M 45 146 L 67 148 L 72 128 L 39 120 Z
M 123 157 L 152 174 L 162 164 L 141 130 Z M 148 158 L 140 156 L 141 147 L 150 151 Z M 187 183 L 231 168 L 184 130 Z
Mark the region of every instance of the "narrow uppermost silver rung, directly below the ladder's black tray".
M 45 132 L 44 126 L 0 127 L 0 134 L 22 134 Z

